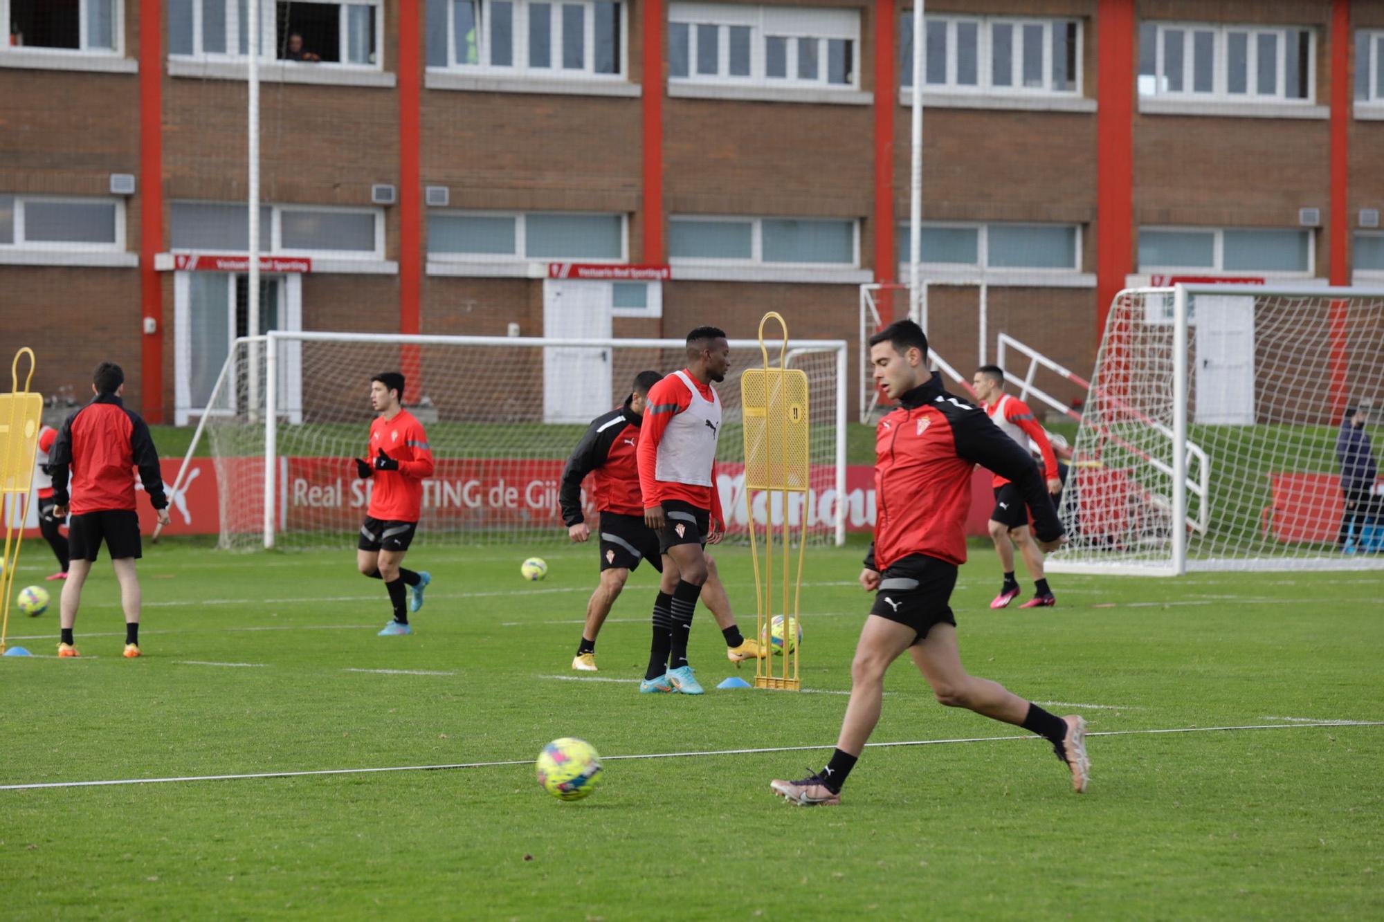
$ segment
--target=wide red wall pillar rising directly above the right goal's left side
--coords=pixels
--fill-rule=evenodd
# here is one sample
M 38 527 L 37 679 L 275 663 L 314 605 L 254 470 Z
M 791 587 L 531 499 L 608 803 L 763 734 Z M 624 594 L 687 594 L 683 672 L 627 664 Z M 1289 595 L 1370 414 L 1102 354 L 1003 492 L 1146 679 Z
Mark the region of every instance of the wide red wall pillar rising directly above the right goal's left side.
M 1102 0 L 1096 21 L 1096 339 L 1133 263 L 1133 0 Z

